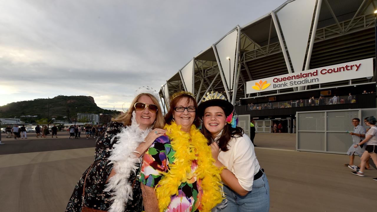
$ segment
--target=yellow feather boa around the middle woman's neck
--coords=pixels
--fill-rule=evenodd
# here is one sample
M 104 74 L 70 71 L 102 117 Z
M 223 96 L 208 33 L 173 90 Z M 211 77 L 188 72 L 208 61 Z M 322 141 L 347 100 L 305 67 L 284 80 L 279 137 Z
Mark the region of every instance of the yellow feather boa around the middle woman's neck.
M 203 195 L 200 211 L 211 211 L 222 201 L 222 184 L 220 183 L 220 169 L 213 164 L 215 160 L 207 145 L 207 139 L 194 124 L 191 126 L 190 134 L 181 131 L 181 126 L 174 121 L 171 125 L 166 124 L 164 129 L 167 130 L 166 135 L 169 136 L 172 148 L 176 152 L 174 163 L 169 164 L 169 171 L 163 173 L 164 176 L 155 187 L 160 212 L 167 209 L 172 195 L 178 195 L 178 187 L 187 180 L 193 160 L 198 161 L 196 178 L 202 179 Z

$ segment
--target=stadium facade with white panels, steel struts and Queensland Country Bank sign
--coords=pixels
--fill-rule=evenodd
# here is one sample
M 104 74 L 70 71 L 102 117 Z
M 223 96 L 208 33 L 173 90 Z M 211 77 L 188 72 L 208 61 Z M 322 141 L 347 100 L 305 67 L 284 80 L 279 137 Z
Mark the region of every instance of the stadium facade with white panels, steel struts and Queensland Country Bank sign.
M 167 79 L 164 109 L 174 92 L 193 92 L 200 104 L 218 91 L 238 114 L 265 120 L 257 131 L 282 123 L 294 132 L 296 112 L 375 108 L 375 9 L 375 0 L 288 0 Z

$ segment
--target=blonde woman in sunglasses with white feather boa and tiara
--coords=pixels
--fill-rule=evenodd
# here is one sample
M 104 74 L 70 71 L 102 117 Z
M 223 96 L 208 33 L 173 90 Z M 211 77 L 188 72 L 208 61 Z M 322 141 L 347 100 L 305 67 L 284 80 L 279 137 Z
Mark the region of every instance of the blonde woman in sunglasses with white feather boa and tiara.
M 149 87 L 136 91 L 130 108 L 113 119 L 96 140 L 94 163 L 76 184 L 66 211 L 85 209 L 141 212 L 142 195 L 137 173 L 141 156 L 164 135 L 159 96 Z M 136 173 L 136 174 L 135 174 Z

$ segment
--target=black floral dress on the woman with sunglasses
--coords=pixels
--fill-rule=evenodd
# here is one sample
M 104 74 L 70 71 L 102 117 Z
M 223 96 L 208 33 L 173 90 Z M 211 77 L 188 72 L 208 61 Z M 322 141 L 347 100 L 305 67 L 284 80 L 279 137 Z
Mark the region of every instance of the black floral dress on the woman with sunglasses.
M 113 164 L 109 164 L 109 149 L 118 138 L 115 138 L 113 143 L 110 143 L 117 133 L 121 132 L 124 128 L 122 123 L 111 122 L 106 129 L 106 132 L 97 138 L 95 146 L 95 159 L 92 169 L 89 171 L 89 167 L 86 169 L 80 180 L 77 182 L 76 187 L 72 193 L 72 196 L 68 202 L 66 212 L 81 212 L 81 201 L 83 194 L 83 185 L 86 173 L 89 171 L 85 184 L 85 198 L 84 204 L 86 207 L 91 207 L 98 210 L 107 210 L 110 207 L 112 201 L 110 201 L 111 195 L 104 192 L 105 181 L 110 175 L 113 168 Z M 140 167 L 140 164 L 136 164 Z M 139 172 L 138 168 L 136 173 Z M 131 172 L 129 181 L 132 184 L 137 176 Z M 138 181 L 138 179 L 136 179 Z M 143 208 L 143 198 L 141 195 L 140 183 L 135 183 L 133 186 L 133 200 L 129 200 L 125 207 L 125 212 L 141 212 Z

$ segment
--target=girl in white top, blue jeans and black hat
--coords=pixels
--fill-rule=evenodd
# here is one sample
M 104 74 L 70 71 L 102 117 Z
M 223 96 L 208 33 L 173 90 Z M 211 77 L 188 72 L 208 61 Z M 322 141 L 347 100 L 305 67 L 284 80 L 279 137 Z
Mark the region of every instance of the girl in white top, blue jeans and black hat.
M 223 98 L 223 99 L 219 99 Z M 209 99 L 209 100 L 208 100 Z M 212 93 L 198 107 L 203 134 L 209 140 L 216 166 L 224 167 L 221 180 L 227 198 L 219 211 L 265 212 L 270 209 L 270 187 L 250 138 L 236 127 L 234 107 L 221 94 Z

